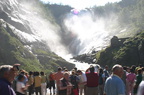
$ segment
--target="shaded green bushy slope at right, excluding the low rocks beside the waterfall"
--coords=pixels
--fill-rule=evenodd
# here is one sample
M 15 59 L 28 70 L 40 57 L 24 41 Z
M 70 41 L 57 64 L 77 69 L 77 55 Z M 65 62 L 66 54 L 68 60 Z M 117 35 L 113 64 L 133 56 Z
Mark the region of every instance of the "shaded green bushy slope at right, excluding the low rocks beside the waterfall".
M 98 59 L 101 65 L 122 64 L 126 66 L 144 64 L 144 31 L 128 38 L 119 47 L 108 47 Z

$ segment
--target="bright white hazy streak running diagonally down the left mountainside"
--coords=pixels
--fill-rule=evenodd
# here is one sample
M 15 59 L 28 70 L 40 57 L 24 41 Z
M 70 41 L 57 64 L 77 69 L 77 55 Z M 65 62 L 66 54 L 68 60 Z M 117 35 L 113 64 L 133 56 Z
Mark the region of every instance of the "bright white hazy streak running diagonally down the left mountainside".
M 1 18 L 11 25 L 15 34 L 24 43 L 42 42 L 60 56 L 67 54 L 67 49 L 63 46 L 59 36 L 59 27 L 38 13 L 36 9 L 41 10 L 41 8 L 35 2 L 3 0 L 0 4 L 1 14 L 4 13 L 7 16 L 7 18 Z

